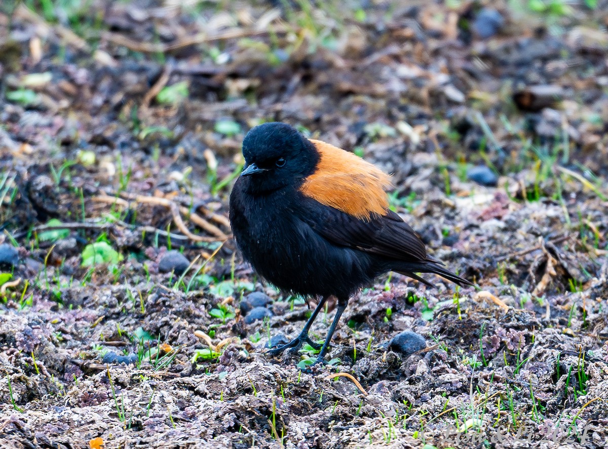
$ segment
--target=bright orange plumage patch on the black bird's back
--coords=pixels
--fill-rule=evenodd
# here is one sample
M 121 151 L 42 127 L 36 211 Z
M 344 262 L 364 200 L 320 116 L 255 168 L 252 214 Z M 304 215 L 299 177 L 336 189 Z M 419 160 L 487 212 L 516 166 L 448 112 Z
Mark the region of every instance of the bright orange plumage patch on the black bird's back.
M 320 161 L 300 188 L 304 195 L 364 220 L 371 214 L 386 214 L 386 189 L 393 185 L 389 175 L 353 153 L 322 141 L 311 142 Z

